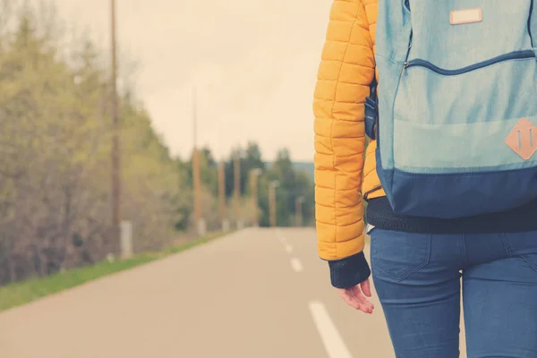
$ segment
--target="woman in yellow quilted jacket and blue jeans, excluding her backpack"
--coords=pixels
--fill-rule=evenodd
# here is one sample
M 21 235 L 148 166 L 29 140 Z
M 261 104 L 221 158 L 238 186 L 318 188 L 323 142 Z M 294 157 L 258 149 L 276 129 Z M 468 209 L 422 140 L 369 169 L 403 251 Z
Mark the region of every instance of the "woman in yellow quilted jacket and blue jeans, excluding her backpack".
M 422 9 L 418 7 L 427 3 L 421 0 L 398 1 L 402 4 L 395 11 L 379 7 L 396 3 L 388 0 L 335 0 L 332 5 L 314 101 L 320 258 L 328 261 L 331 284 L 345 303 L 356 310 L 372 313 L 374 307 L 367 299 L 371 297 L 371 271 L 363 254 L 366 230 L 362 219 L 362 199 L 367 200 L 372 274 L 397 357 L 459 356 L 462 288 L 469 358 L 537 358 L 537 200 L 525 200 L 513 208 L 490 210 L 490 213 L 478 215 L 466 215 L 468 206 L 462 202 L 459 216 L 439 218 L 438 215 L 402 214 L 405 210 L 394 211 L 386 186 L 381 184 L 384 181 L 377 170 L 377 141 L 370 140 L 365 149 L 368 141 L 364 124 L 365 103 L 366 98 L 371 96 L 371 84 L 379 81 L 379 98 L 389 91 L 387 86 L 383 92 L 383 72 L 379 71 L 379 64 L 375 61 L 376 43 L 386 47 L 387 42 L 387 38 L 382 38 L 388 28 L 386 23 L 376 38 L 379 13 L 386 21 L 389 11 L 398 16 L 410 13 L 414 4 L 415 10 L 420 11 Z M 449 5 L 464 3 L 427 4 L 438 6 L 438 9 L 430 11 L 439 13 Z M 475 26 L 477 23 L 489 26 L 491 22 L 487 16 L 490 12 L 487 13 L 486 6 L 491 3 L 507 4 L 489 0 L 481 3 L 484 11 L 480 8 L 474 13 L 466 10 L 464 13 L 451 12 L 450 25 L 470 22 Z M 513 12 L 528 13 L 529 8 L 527 24 L 524 22 L 517 29 L 521 33 L 527 31 L 520 44 L 530 49 L 533 46 L 537 52 L 537 41 L 533 41 L 532 36 L 532 32 L 537 33 L 537 15 L 532 17 L 532 12 L 535 13 L 533 0 L 508 3 L 513 6 Z M 501 19 L 502 15 L 495 16 Z M 449 13 L 446 19 L 449 19 Z M 498 27 L 500 24 L 490 26 Z M 429 30 L 434 33 L 433 27 Z M 493 40 L 501 42 L 502 38 Z M 506 41 L 509 43 L 510 38 Z M 430 39 L 430 43 L 433 42 Z M 455 47 L 456 44 L 454 51 Z M 411 47 L 408 48 L 412 57 Z M 462 50 L 469 51 L 467 48 Z M 524 54 L 531 57 L 531 50 Z M 456 61 L 456 57 L 454 55 L 448 60 Z M 516 65 L 519 63 L 522 61 Z M 531 62 L 524 64 L 527 71 L 537 75 Z M 405 76 L 405 69 L 406 65 L 401 77 Z M 537 81 L 536 77 L 533 79 Z M 530 77 L 527 81 L 533 79 Z M 521 81 L 524 81 L 524 76 Z M 489 87 L 499 86 L 491 84 Z M 470 99 L 477 101 L 476 96 L 474 94 Z M 409 102 L 415 100 L 419 98 L 409 98 Z M 521 110 L 533 111 L 528 108 Z M 525 129 L 530 129 L 529 135 L 533 135 L 531 144 L 528 144 L 533 148 L 533 141 L 537 141 L 537 128 L 533 130 L 532 125 L 536 124 L 537 111 L 527 115 L 530 115 L 530 121 L 523 124 Z M 381 124 L 382 118 L 381 111 Z M 372 132 L 371 137 L 376 138 L 378 133 L 378 130 Z M 520 130 L 518 135 L 516 145 L 523 149 Z M 382 138 L 382 131 L 379 137 Z M 509 143 L 508 139 L 506 143 Z M 409 141 L 409 150 L 411 145 L 414 143 Z M 448 150 L 452 149 L 444 151 Z M 534 151 L 519 154 L 530 160 Z M 534 155 L 532 160 L 536 157 Z M 534 186 L 535 181 L 533 175 L 529 184 Z M 449 192 L 444 194 L 449 195 Z M 405 204 L 401 200 L 398 204 Z M 435 209 L 441 212 L 444 201 L 439 202 Z M 472 206 L 471 201 L 469 205 Z

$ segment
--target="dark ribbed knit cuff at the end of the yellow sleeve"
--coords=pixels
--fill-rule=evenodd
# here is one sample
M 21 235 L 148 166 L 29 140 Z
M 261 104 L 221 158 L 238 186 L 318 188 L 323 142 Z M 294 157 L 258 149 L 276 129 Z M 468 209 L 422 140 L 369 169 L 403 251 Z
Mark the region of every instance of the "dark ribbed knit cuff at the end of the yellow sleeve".
M 336 288 L 356 286 L 371 276 L 363 251 L 342 260 L 328 261 L 328 265 L 330 281 Z

